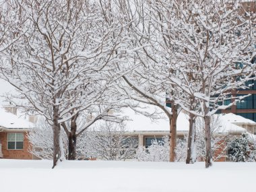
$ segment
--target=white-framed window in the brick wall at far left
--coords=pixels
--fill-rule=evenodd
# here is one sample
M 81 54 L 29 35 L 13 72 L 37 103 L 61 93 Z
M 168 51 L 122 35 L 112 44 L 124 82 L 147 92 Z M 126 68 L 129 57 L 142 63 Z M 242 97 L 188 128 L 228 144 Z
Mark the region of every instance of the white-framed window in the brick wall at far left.
M 8 150 L 22 150 L 23 149 L 23 133 L 8 133 Z

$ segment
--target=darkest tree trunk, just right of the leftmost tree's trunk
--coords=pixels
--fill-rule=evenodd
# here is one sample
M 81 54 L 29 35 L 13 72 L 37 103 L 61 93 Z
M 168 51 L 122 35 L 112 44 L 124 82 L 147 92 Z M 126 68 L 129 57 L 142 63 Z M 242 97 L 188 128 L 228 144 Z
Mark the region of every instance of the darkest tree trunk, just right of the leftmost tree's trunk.
M 75 160 L 76 158 L 76 137 L 77 135 L 76 130 L 77 130 L 77 124 L 76 122 L 72 121 L 71 122 L 71 130 L 69 132 L 69 154 L 68 154 L 68 160 Z

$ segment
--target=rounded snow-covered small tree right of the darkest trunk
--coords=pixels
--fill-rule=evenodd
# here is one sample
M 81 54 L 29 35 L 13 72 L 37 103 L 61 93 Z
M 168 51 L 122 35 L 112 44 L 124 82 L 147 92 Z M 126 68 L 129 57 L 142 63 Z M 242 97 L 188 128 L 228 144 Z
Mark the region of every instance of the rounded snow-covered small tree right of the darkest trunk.
M 123 123 L 98 123 L 82 137 L 83 154 L 103 160 L 126 160 L 134 158 L 138 140 L 125 135 Z

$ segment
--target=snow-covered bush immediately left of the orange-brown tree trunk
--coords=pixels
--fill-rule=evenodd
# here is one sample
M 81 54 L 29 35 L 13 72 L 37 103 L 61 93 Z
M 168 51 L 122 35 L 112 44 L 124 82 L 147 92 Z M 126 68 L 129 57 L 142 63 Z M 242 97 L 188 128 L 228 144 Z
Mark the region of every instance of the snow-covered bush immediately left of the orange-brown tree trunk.
M 153 139 L 152 145 L 148 148 L 139 147 L 136 151 L 135 158 L 138 161 L 167 162 L 170 160 L 170 146 L 168 136 L 162 140 Z

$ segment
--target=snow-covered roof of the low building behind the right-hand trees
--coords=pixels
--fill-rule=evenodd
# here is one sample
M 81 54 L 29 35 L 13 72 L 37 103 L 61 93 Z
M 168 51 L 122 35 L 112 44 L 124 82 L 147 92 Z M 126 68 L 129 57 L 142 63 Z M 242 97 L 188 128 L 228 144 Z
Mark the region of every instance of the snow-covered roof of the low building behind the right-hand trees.
M 135 113 L 131 108 L 123 110 L 124 115 L 127 115 L 131 121 L 127 121 L 128 131 L 170 131 L 170 123 L 168 118 L 156 119 L 152 121 L 150 118 L 145 117 L 139 113 Z M 234 119 L 238 119 L 238 115 L 215 115 L 220 117 L 218 133 L 227 132 L 245 132 L 243 127 L 232 124 Z M 250 120 L 249 120 L 250 121 Z M 248 121 L 248 122 L 249 122 Z M 242 122 L 242 121 L 241 121 Z M 243 122 L 247 122 L 244 120 Z M 177 119 L 177 131 L 189 131 L 189 116 L 185 113 L 180 113 Z

